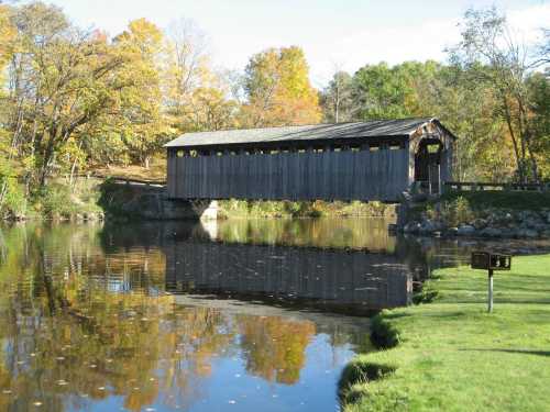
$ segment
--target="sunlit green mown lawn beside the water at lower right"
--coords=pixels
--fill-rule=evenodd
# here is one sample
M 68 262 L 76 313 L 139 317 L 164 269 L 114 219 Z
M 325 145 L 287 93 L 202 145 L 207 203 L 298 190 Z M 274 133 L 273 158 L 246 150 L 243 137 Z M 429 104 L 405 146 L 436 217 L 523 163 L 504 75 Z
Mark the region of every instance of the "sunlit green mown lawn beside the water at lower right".
M 550 405 L 550 255 L 517 257 L 495 275 L 438 270 L 430 303 L 374 320 L 388 350 L 358 356 L 344 370 L 345 411 L 544 411 Z

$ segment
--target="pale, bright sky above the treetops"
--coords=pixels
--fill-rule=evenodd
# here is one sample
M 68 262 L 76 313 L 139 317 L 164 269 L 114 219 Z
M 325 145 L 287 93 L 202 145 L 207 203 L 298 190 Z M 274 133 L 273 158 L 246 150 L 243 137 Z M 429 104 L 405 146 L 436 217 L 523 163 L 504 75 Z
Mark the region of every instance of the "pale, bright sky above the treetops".
M 436 59 L 460 40 L 461 16 L 495 4 L 516 35 L 535 42 L 550 27 L 550 0 L 45 0 L 64 9 L 79 26 L 116 35 L 131 20 L 160 27 L 185 18 L 207 35 L 216 66 L 242 70 L 268 47 L 301 46 L 315 87 L 337 69 L 365 64 Z

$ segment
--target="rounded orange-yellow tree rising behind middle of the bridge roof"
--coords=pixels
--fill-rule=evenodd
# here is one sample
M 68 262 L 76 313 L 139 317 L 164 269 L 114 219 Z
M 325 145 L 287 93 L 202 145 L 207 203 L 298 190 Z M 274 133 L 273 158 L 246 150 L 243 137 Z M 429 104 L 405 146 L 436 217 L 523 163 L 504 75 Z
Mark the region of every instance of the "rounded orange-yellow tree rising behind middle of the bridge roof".
M 318 123 L 321 112 L 317 91 L 301 48 L 270 48 L 249 62 L 243 79 L 248 102 L 243 123 L 276 126 Z

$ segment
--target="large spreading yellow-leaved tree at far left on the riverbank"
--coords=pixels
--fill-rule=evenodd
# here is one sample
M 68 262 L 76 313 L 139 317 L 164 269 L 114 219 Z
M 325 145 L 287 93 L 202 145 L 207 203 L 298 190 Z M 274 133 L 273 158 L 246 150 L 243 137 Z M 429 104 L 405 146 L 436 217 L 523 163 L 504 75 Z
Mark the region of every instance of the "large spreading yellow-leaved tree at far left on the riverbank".
M 40 2 L 22 5 L 13 24 L 9 124 L 28 167 L 26 181 L 36 187 L 55 170 L 63 146 L 112 111 L 117 92 L 130 85 L 113 76 L 124 56 L 112 53 L 97 33 L 73 26 L 59 9 Z

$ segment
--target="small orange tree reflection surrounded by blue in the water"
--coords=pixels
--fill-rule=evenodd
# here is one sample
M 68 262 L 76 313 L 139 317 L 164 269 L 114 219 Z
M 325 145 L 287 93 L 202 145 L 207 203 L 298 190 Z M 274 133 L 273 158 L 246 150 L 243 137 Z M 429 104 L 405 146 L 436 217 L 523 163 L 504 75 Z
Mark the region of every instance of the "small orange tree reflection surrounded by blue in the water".
M 279 316 L 238 316 L 238 323 L 246 370 L 270 381 L 296 383 L 315 324 Z

